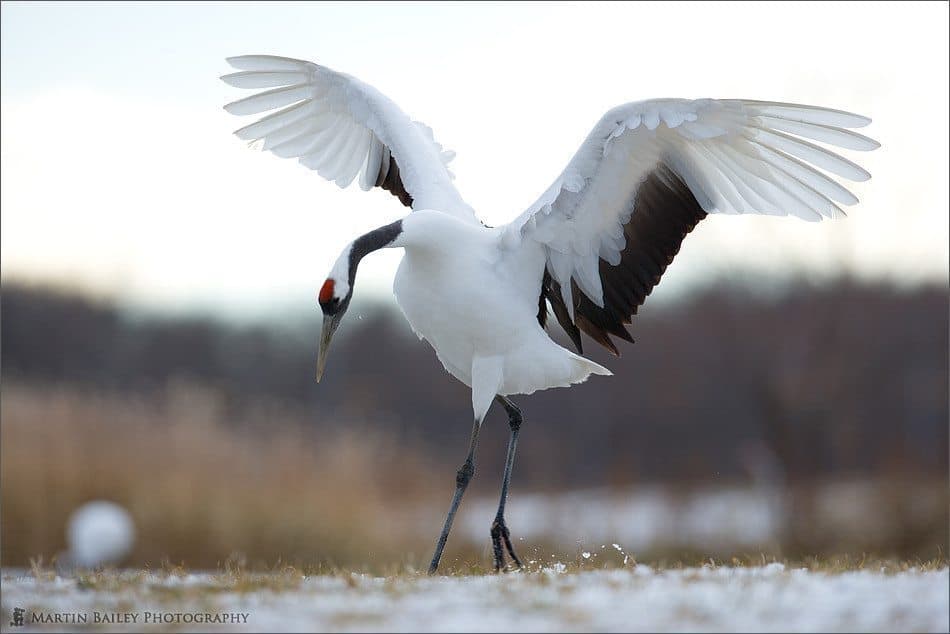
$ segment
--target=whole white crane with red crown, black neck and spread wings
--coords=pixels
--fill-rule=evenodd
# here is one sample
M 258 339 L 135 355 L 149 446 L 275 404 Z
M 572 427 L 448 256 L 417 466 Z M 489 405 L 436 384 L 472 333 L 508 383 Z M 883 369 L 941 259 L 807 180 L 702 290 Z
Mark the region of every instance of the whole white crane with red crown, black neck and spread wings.
M 340 187 L 358 177 L 363 190 L 382 187 L 412 210 L 350 243 L 323 283 L 317 381 L 360 260 L 377 249 L 404 249 L 396 302 L 445 369 L 471 388 L 475 420 L 430 573 L 475 473 L 478 433 L 492 402 L 504 407 L 511 429 L 491 527 L 495 569 L 502 570 L 504 550 L 521 566 L 505 525 L 522 424 L 508 397 L 611 374 L 548 336 L 548 304 L 578 353 L 583 331 L 617 354 L 610 336 L 632 341 L 624 324 L 707 214 L 843 216 L 838 205 L 857 198 L 816 167 L 851 181 L 870 175 L 806 139 L 879 147 L 848 129 L 870 119 L 828 108 L 741 99 L 629 103 L 601 118 L 527 211 L 487 227 L 452 185 L 454 153 L 371 86 L 302 60 L 249 55 L 228 62 L 240 72 L 225 82 L 267 89 L 226 105 L 228 112 L 279 108 L 238 130 L 239 138 L 261 141 L 264 150 L 296 158 Z

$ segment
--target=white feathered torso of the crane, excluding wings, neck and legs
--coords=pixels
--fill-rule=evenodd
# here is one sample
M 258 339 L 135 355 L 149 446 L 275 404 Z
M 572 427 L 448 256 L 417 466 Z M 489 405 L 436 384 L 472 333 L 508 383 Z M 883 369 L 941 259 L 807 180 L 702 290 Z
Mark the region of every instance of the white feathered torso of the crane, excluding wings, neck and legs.
M 436 211 L 403 221 L 396 303 L 439 361 L 472 388 L 476 418 L 495 395 L 565 387 L 606 368 L 558 345 L 538 322 L 540 248 L 507 249 L 503 229 Z

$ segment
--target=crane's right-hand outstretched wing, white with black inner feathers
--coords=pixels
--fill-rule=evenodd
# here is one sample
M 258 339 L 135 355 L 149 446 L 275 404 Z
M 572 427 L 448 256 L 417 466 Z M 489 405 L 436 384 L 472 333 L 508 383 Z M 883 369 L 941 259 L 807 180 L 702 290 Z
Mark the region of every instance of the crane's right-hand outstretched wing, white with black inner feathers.
M 816 168 L 851 181 L 870 174 L 811 141 L 873 150 L 876 141 L 847 129 L 868 123 L 839 110 L 764 101 L 620 106 L 505 228 L 505 244 L 542 245 L 541 306 L 551 302 L 578 350 L 584 331 L 617 354 L 608 335 L 632 341 L 624 324 L 706 214 L 843 216 L 838 204 L 857 198 Z M 539 312 L 542 325 L 545 315 Z

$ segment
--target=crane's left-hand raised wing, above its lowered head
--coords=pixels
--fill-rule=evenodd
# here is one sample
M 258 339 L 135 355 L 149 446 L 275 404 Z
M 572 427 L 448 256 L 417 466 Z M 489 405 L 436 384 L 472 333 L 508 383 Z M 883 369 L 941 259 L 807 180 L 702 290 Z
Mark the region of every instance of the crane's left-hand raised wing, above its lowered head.
M 266 88 L 224 107 L 231 114 L 276 112 L 235 134 L 264 150 L 296 158 L 340 187 L 388 190 L 412 209 L 434 209 L 478 223 L 452 184 L 432 129 L 412 121 L 378 90 L 312 62 L 272 55 L 230 57 L 240 72 L 221 79 L 237 88 Z

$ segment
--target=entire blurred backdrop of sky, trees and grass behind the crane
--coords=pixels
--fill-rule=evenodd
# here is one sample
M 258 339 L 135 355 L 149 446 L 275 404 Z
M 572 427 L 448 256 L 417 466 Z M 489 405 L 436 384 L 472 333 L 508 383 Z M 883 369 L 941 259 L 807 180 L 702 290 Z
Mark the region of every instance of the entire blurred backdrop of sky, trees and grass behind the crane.
M 129 565 L 430 554 L 469 395 L 394 306 L 398 253 L 361 267 L 312 378 L 326 271 L 403 209 L 230 136 L 243 122 L 221 105 L 241 93 L 217 77 L 244 53 L 391 96 L 458 151 L 489 224 L 625 101 L 871 116 L 883 147 L 851 157 L 874 178 L 848 219 L 705 220 L 636 344 L 615 359 L 588 341 L 615 377 L 518 400 L 508 523 L 529 560 L 945 556 L 947 5 L 0 11 L 2 565 L 55 558 L 69 514 L 99 498 L 136 522 Z M 493 411 L 447 562 L 488 561 L 506 440 Z

